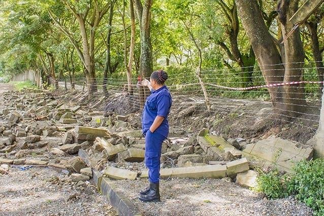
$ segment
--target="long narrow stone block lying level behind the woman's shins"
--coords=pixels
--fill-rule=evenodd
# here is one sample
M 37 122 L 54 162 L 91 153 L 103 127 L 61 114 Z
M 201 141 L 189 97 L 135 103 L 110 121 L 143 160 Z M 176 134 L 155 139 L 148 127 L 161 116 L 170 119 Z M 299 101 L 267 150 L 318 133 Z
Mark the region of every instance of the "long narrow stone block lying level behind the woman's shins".
M 148 171 L 142 172 L 141 178 L 148 178 Z M 161 178 L 222 178 L 226 177 L 225 165 L 206 165 L 160 169 Z

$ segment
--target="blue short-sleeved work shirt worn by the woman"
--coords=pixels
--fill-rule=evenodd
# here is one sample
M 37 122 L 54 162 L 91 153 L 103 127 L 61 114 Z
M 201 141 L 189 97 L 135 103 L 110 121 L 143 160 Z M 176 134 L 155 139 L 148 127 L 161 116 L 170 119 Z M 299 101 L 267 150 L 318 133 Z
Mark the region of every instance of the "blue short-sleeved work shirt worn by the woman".
M 142 130 L 149 130 L 156 116 L 163 116 L 162 124 L 154 131 L 165 137 L 169 134 L 169 121 L 167 119 L 172 104 L 171 95 L 166 85 L 153 90 L 147 97 L 142 114 Z

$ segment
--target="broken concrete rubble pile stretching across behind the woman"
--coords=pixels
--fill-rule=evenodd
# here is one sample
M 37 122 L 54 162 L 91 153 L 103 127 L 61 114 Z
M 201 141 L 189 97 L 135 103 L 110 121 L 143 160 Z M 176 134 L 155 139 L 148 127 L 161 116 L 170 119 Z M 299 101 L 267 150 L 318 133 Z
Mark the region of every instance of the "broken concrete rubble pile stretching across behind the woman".
M 37 89 L 9 91 L 1 97 L 0 173 L 7 173 L 9 166 L 51 166 L 80 184 L 94 172 L 112 179 L 148 177 L 145 141 L 128 116 L 89 111 Z M 313 154 L 311 147 L 275 137 L 247 143 L 207 129 L 197 133 L 197 137 L 170 137 L 163 143 L 162 178 L 231 178 L 254 187 L 256 173 L 251 165 L 277 164 L 280 171 L 289 172 L 294 162 Z

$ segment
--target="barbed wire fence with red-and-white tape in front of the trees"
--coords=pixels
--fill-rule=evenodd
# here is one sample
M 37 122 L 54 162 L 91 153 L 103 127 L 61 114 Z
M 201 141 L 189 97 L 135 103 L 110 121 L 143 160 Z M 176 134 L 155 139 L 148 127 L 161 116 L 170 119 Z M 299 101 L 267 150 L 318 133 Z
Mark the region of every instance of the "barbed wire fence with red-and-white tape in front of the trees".
M 286 67 L 286 65 L 283 66 Z M 316 131 L 319 122 L 323 86 L 323 81 L 319 81 L 320 77 L 317 71 L 324 69 L 316 68 L 314 63 L 307 63 L 305 67 L 295 69 L 302 70 L 302 76 L 285 76 L 282 77 L 282 81 L 267 84 L 265 79 L 273 77 L 265 77 L 260 68 L 260 66 L 257 66 L 253 70 L 248 70 L 250 76 L 246 76 L 246 72 L 241 72 L 247 71 L 245 69 L 242 70 L 242 68 L 201 71 L 199 73 L 201 79 L 198 78 L 198 73 L 195 71 L 182 73 L 168 71 L 169 78 L 166 81 L 166 85 L 173 97 L 171 112 L 181 112 L 189 108 L 192 106 L 192 103 L 189 102 L 200 104 L 200 106 L 196 107 L 196 112 L 205 112 L 208 102 L 210 103 L 211 115 L 235 113 L 237 116 L 244 115 L 245 117 L 255 118 L 260 113 L 260 110 L 246 110 L 245 106 L 255 105 L 255 107 L 260 107 L 263 104 L 265 107 L 273 108 L 271 94 L 278 91 L 275 87 L 285 87 L 286 91 L 290 92 L 290 94 L 277 94 L 276 96 L 276 100 L 282 103 L 279 108 L 281 112 L 277 115 L 272 115 L 273 109 L 264 109 L 264 118 L 273 120 L 285 119 L 287 123 L 300 125 Z M 289 81 L 296 80 L 296 78 L 299 81 Z M 134 110 L 142 109 L 140 104 L 141 85 L 138 77 L 133 77 L 129 84 L 127 83 L 127 78 L 124 77 L 64 79 L 59 81 L 59 85 L 67 89 L 84 90 L 84 94 L 96 93 L 103 94 L 108 98 L 126 98 L 127 103 Z M 205 95 L 202 85 L 206 89 L 207 94 Z M 300 100 L 296 100 L 296 98 Z M 305 103 L 302 103 L 302 101 Z M 299 106 L 300 108 L 291 111 L 289 110 L 291 106 Z M 291 112 L 293 112 L 292 115 L 285 114 L 291 114 Z M 305 124 L 306 121 L 308 122 L 307 124 Z

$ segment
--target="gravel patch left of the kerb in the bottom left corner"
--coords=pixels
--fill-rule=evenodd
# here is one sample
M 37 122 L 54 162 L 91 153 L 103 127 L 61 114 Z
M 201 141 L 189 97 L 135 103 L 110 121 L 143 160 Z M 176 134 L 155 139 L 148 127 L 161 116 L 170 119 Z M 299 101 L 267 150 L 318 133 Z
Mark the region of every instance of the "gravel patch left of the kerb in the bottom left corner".
M 0 215 L 118 215 L 91 182 L 77 186 L 52 167 L 12 167 L 0 175 Z

